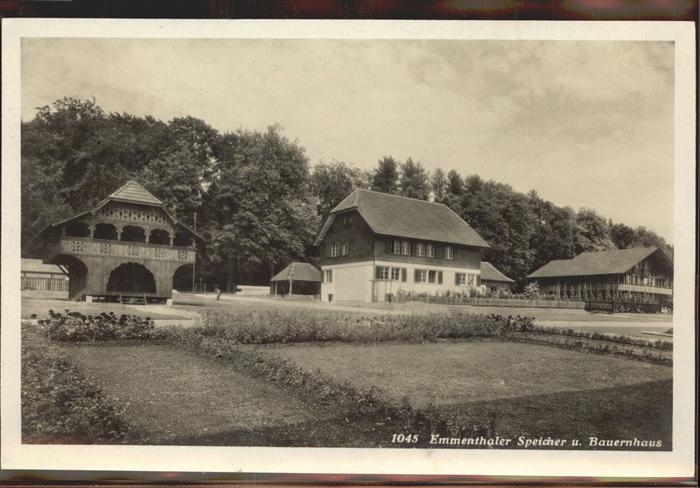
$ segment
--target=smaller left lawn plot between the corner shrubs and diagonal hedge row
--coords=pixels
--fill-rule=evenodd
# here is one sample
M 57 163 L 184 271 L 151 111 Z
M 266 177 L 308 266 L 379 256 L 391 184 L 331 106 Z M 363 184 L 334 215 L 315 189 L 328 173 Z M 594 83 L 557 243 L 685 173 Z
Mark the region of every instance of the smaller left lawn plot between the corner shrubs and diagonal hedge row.
M 329 412 L 225 361 L 155 344 L 64 350 L 112 404 L 125 407 L 122 417 L 139 444 L 303 446 L 354 435 L 350 426 L 331 422 Z M 361 434 L 355 437 L 363 442 Z

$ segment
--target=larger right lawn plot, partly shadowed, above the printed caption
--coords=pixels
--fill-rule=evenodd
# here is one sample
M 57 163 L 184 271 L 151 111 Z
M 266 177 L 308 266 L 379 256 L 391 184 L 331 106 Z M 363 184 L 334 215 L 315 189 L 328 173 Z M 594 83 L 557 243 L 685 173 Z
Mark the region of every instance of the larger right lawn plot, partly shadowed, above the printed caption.
M 503 435 L 671 441 L 672 368 L 554 347 L 481 340 L 270 349 L 339 382 L 375 386 Z

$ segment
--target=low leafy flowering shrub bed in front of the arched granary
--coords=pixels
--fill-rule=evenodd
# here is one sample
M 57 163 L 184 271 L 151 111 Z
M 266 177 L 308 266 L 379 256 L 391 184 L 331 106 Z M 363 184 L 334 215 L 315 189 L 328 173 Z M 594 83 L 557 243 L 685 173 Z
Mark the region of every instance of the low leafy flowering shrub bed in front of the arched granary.
M 143 340 L 155 336 L 150 318 L 136 315 L 83 315 L 65 310 L 65 314 L 49 310 L 49 318 L 38 321 L 39 330 L 50 339 L 66 342 L 105 341 L 111 339 Z

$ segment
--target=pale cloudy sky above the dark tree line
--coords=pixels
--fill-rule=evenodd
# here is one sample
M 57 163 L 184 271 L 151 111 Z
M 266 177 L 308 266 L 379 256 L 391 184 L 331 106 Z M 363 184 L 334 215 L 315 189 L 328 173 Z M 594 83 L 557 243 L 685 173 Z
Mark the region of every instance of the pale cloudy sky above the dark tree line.
M 33 38 L 21 55 L 25 121 L 72 96 L 279 124 L 311 164 L 411 157 L 673 242 L 670 42 Z

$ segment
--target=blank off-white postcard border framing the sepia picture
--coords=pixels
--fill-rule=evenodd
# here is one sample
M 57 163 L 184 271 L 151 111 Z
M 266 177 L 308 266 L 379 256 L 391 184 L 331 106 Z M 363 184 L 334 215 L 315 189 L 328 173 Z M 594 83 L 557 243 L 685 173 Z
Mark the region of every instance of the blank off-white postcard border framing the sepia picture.
M 22 37 L 667 40 L 675 43 L 672 452 L 22 445 Z M 691 22 L 2 20 L 3 469 L 682 478 L 694 475 L 695 39 Z

